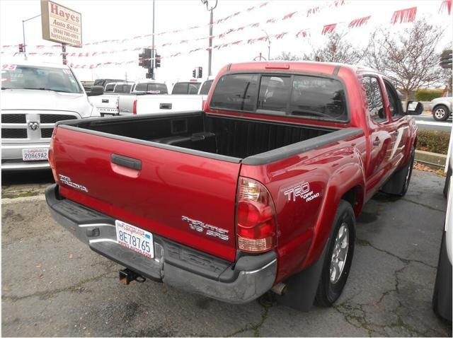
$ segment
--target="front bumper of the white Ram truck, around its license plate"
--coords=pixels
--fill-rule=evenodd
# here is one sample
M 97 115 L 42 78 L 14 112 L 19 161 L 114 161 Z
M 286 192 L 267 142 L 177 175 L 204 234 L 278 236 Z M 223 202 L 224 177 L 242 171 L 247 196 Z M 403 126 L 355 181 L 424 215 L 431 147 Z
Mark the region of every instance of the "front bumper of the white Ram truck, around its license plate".
M 46 144 L 1 144 L 1 170 L 38 170 L 50 168 L 48 161 L 22 161 L 22 149 L 49 148 Z

